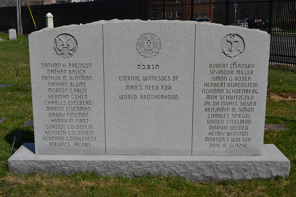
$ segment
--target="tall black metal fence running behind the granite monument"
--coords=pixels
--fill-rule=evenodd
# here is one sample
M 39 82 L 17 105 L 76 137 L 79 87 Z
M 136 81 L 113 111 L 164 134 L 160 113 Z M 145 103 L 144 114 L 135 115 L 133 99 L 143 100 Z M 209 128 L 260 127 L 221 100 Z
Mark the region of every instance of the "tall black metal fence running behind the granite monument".
M 270 64 L 296 66 L 295 0 L 98 0 L 31 6 L 31 10 L 38 30 L 45 27 L 48 12 L 54 16 L 54 27 L 117 18 L 195 20 L 258 28 L 271 35 Z M 21 7 L 21 17 L 23 33 L 35 31 L 26 6 Z M 16 7 L 0 8 L 0 30 L 10 28 L 17 28 Z

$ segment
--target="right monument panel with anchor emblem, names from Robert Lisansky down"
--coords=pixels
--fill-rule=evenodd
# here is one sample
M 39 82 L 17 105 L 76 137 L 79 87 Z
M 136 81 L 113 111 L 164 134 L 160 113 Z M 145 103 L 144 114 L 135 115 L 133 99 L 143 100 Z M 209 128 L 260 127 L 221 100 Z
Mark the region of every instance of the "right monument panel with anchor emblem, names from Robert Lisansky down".
M 196 25 L 193 155 L 262 153 L 270 35 Z

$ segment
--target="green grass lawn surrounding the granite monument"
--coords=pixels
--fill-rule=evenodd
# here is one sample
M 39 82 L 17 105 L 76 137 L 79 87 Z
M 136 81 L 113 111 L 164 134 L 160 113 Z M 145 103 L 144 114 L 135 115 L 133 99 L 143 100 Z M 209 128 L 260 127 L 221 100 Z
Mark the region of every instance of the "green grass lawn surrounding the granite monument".
M 275 144 L 291 162 L 288 178 L 275 180 L 246 180 L 222 183 L 193 183 L 176 177 L 100 177 L 83 173 L 63 175 L 15 175 L 7 169 L 12 146 L 12 136 L 20 128 L 21 139 L 13 152 L 25 142 L 34 142 L 32 126 L 21 127 L 33 119 L 28 37 L 17 36 L 8 40 L 8 34 L 0 32 L 0 196 L 296 196 L 296 100 L 268 98 L 266 123 L 284 124 L 288 131 L 265 131 L 264 143 Z M 15 75 L 17 70 L 17 82 Z M 296 95 L 296 70 L 280 70 L 272 67 L 268 72 L 268 92 Z

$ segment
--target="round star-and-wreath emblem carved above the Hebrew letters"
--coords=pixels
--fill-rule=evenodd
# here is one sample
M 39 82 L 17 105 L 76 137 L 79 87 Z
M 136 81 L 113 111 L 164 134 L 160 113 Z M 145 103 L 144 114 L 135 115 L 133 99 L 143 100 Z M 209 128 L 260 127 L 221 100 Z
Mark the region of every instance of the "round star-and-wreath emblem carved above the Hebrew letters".
M 136 44 L 138 53 L 145 58 L 152 58 L 160 51 L 160 40 L 152 33 L 141 35 Z

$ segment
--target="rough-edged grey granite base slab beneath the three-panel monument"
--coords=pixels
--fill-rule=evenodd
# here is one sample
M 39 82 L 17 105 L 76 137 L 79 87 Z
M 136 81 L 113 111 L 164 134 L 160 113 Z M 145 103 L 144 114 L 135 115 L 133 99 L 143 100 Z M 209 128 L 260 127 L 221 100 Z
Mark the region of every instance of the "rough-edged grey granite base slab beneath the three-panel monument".
M 35 154 L 34 143 L 23 144 L 9 159 L 9 171 L 17 174 L 70 175 L 95 172 L 107 176 L 154 175 L 185 177 L 207 182 L 287 177 L 290 161 L 274 144 L 263 145 L 262 156 L 208 155 L 48 155 Z

